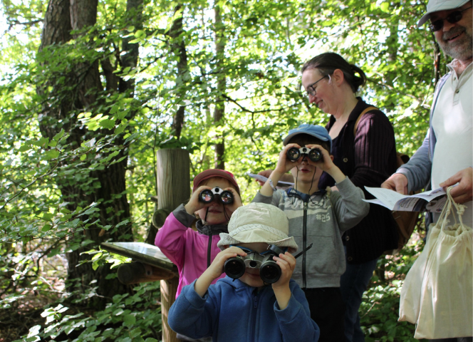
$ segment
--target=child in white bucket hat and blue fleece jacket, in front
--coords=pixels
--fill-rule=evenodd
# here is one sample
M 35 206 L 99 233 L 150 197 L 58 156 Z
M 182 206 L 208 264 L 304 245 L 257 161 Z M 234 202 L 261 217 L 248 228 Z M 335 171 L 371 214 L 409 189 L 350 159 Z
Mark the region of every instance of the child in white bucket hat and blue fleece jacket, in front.
M 191 338 L 212 336 L 212 341 L 318 341 L 306 296 L 291 280 L 296 266 L 291 252 L 296 252 L 297 244 L 288 236 L 286 214 L 270 204 L 251 203 L 235 210 L 228 230 L 220 234 L 222 252 L 172 304 L 168 316 L 172 330 Z M 228 259 L 264 255 L 272 245 L 287 249 L 273 257 L 281 269 L 273 284 L 261 279 L 258 268 L 247 266 L 238 279 L 227 275 L 211 285 Z

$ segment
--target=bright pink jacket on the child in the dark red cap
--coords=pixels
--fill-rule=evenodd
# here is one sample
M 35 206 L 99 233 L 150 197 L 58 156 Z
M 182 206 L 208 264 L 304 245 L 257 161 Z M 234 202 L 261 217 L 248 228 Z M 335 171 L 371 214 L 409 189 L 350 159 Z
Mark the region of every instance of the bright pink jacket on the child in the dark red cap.
M 187 214 L 181 204 L 166 219 L 165 224 L 158 230 L 155 245 L 177 266 L 179 285 L 176 298 L 182 287 L 189 285 L 204 273 L 208 265 L 220 252 L 217 247 L 219 233 L 228 232 L 227 224 L 204 226 L 197 221 L 198 232 L 189 226 L 194 221 L 193 215 Z M 218 279 L 224 278 L 222 274 Z M 212 281 L 215 284 L 218 279 Z

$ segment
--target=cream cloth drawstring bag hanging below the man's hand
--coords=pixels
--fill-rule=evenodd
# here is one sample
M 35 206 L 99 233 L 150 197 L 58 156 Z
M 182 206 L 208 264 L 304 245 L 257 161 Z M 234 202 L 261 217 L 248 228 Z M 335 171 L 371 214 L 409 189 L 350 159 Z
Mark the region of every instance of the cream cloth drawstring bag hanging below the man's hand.
M 416 323 L 415 338 L 473 334 L 473 231 L 462 222 L 464 206 L 456 204 L 449 192 L 450 188 L 439 220 L 430 225 L 425 249 L 401 290 L 400 321 Z

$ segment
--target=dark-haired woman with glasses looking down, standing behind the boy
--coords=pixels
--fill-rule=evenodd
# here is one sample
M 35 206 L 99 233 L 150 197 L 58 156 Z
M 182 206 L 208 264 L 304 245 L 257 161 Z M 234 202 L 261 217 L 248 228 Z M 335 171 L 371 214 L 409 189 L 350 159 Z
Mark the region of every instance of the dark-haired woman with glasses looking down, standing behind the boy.
M 366 83 L 365 73 L 337 53 L 322 53 L 304 63 L 302 85 L 309 103 L 331 114 L 326 126 L 333 141 L 333 162 L 356 186 L 380 187 L 395 172 L 393 127 L 386 115 L 356 96 Z M 335 182 L 323 174 L 319 189 Z M 346 271 L 341 277 L 345 301 L 346 341 L 365 341 L 358 309 L 376 261 L 383 252 L 397 248 L 395 221 L 390 210 L 370 205 L 370 212 L 357 226 L 345 232 Z

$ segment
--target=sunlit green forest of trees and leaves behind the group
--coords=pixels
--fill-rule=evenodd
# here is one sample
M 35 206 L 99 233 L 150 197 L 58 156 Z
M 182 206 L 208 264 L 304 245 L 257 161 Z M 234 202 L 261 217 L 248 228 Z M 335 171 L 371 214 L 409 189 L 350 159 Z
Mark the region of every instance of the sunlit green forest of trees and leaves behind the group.
M 158 341 L 159 282 L 124 286 L 101 242 L 154 240 L 156 152 L 236 175 L 271 168 L 281 138 L 324 125 L 298 71 L 334 51 L 367 73 L 397 150 L 427 131 L 445 73 L 420 0 L 1 0 L 0 341 Z M 190 185 L 189 185 L 190 187 Z M 378 261 L 367 341 L 416 341 L 397 322 L 422 230 Z

